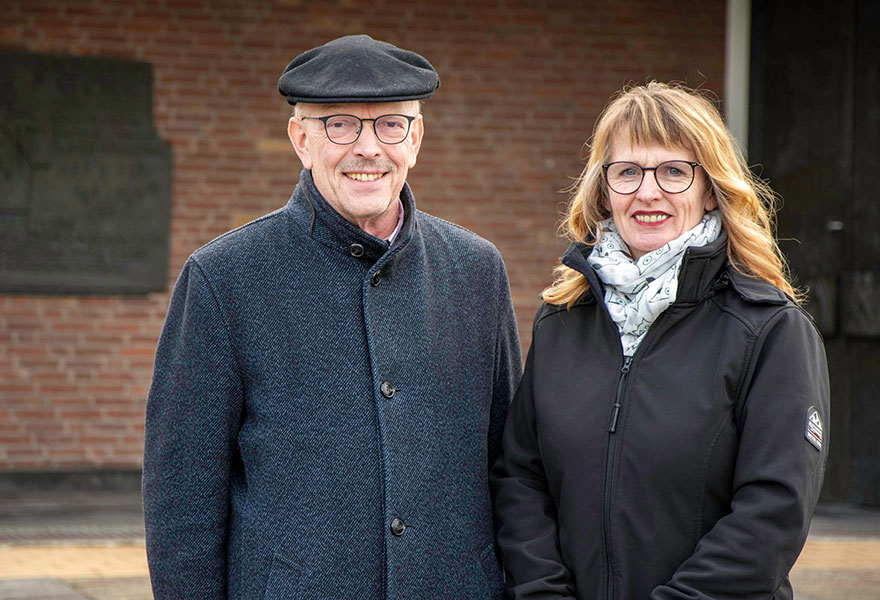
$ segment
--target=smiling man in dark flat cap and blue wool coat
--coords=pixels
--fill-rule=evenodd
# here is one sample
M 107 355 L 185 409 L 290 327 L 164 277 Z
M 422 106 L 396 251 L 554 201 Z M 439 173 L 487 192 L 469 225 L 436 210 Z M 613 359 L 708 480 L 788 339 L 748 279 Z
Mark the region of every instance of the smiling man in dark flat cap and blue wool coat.
M 501 598 L 487 475 L 519 342 L 498 251 L 406 183 L 438 86 L 363 35 L 281 76 L 299 184 L 190 257 L 157 349 L 157 600 Z

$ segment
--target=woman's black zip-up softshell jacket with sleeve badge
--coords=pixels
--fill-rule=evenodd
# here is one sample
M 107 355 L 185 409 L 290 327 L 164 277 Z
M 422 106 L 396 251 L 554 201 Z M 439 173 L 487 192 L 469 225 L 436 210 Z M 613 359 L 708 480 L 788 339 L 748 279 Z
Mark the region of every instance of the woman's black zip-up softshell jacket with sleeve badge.
M 538 312 L 491 474 L 510 596 L 792 597 L 827 456 L 825 353 L 726 241 L 687 251 L 629 361 L 590 248 L 569 248 L 591 293 Z

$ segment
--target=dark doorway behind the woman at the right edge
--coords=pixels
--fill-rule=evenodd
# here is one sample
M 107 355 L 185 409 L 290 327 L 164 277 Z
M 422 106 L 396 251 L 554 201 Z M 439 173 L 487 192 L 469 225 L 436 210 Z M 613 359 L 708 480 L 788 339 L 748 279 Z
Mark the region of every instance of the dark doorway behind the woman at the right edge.
M 824 338 L 823 500 L 880 505 L 880 3 L 752 3 L 749 164 Z

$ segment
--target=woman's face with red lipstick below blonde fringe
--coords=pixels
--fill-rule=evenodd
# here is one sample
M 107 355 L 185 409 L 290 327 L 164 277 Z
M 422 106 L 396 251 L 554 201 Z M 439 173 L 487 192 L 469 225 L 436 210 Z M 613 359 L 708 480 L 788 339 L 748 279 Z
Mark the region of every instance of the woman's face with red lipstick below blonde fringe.
M 693 152 L 680 146 L 634 145 L 619 133 L 611 140 L 608 162 L 628 161 L 642 167 L 656 167 L 670 160 L 696 162 L 697 159 Z M 614 225 L 633 260 L 693 229 L 706 211 L 717 206 L 701 167 L 696 167 L 691 187 L 678 194 L 660 189 L 654 173 L 645 171 L 641 187 L 631 194 L 619 194 L 605 184 L 609 198 L 606 208 L 611 211 Z

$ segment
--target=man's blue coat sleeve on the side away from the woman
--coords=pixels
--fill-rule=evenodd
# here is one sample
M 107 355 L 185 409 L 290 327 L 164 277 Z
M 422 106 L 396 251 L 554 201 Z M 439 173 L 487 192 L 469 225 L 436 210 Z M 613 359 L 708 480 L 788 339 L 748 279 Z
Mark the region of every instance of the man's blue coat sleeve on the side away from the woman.
M 156 350 L 144 440 L 144 520 L 156 600 L 226 598 L 230 461 L 242 384 L 223 311 L 194 259 Z

